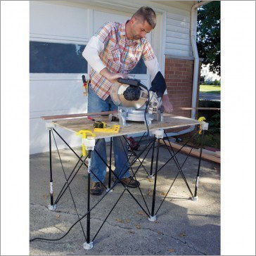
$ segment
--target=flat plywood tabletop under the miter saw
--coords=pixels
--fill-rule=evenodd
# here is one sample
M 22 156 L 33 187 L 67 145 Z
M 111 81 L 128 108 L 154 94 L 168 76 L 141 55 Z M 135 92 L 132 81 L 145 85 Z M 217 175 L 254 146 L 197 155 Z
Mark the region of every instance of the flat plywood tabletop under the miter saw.
M 110 122 L 108 116 L 103 116 L 96 118 L 96 121 L 103 121 L 106 122 L 108 127 L 112 127 L 115 124 L 119 124 L 119 122 Z M 79 117 L 79 118 L 71 118 L 65 120 L 56 120 L 52 121 L 53 124 L 56 124 L 58 127 L 63 127 L 64 129 L 68 129 L 71 132 L 79 132 L 82 129 L 88 129 L 91 132 L 94 132 L 94 122 L 88 120 L 86 117 Z M 151 125 L 148 126 L 150 131 L 156 129 L 170 129 L 170 128 L 177 128 L 177 127 L 186 127 L 188 125 L 193 124 L 203 124 L 204 122 L 199 122 L 198 120 L 193 120 L 188 117 L 180 117 L 177 115 L 164 115 L 163 122 L 153 121 Z M 118 134 L 110 134 L 110 133 L 101 133 L 101 132 L 94 132 L 96 134 L 96 138 L 107 138 L 113 136 L 120 136 L 126 134 L 136 134 L 140 132 L 147 132 L 146 124 L 143 122 L 127 122 L 126 126 L 121 125 L 120 132 Z

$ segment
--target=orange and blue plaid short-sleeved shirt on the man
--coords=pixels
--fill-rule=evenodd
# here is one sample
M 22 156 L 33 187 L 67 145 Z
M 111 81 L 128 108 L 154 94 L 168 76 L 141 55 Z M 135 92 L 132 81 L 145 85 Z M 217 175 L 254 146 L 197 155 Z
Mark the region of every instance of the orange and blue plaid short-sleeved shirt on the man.
M 151 44 L 146 38 L 138 40 L 127 39 L 125 36 L 125 24 L 105 23 L 94 34 L 104 44 L 104 49 L 99 53 L 99 57 L 103 65 L 113 73 L 128 74 L 139 62 L 141 56 L 143 60 L 156 58 Z M 96 94 L 103 100 L 108 98 L 112 83 L 94 69 L 91 69 L 89 77 L 91 79 L 91 87 Z

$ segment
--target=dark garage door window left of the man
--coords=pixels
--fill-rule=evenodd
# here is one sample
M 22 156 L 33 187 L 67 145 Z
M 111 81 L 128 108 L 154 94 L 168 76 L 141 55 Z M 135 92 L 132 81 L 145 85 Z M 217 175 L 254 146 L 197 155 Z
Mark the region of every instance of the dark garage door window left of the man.
M 85 45 L 30 41 L 30 73 L 87 73 Z

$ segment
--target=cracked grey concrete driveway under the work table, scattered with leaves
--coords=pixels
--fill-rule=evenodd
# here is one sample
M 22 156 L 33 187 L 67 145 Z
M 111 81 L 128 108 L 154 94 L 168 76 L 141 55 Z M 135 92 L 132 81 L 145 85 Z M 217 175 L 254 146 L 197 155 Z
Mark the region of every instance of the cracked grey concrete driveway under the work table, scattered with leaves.
M 77 153 L 79 150 L 77 149 Z M 77 162 L 76 156 L 68 149 L 61 150 L 60 156 L 66 175 Z M 179 154 L 178 160 L 186 155 Z M 143 158 L 141 157 L 141 160 Z M 166 148 L 160 147 L 159 167 L 169 159 Z M 145 160 L 150 169 L 151 153 Z M 134 165 L 138 166 L 138 164 Z M 191 186 L 195 187 L 198 158 L 188 158 L 184 174 Z M 108 174 L 108 173 L 107 173 Z M 171 160 L 159 173 L 155 210 L 168 191 L 177 174 L 177 167 Z M 147 179 L 143 168 L 136 175 L 141 182 L 141 191 L 151 210 L 153 182 Z M 58 153 L 53 151 L 54 196 L 65 182 Z M 72 196 L 80 217 L 87 209 L 87 174 L 82 167 L 70 185 Z M 117 198 L 124 190 L 118 184 L 91 212 L 91 239 L 98 231 Z M 145 207 L 138 188 L 129 188 L 136 199 Z M 77 223 L 60 241 L 33 241 L 30 255 L 220 255 L 220 170 L 219 165 L 202 161 L 198 188 L 199 200 L 188 200 L 190 194 L 181 176 L 175 181 L 165 202 L 158 212 L 157 222 L 149 222 L 146 214 L 126 191 L 103 228 L 94 240 L 94 248 L 84 250 L 82 228 Z M 101 197 L 91 196 L 91 206 Z M 49 153 L 30 157 L 30 238 L 60 238 L 77 221 L 77 215 L 67 190 L 57 205 L 57 212 L 48 210 L 49 205 Z M 86 232 L 86 218 L 82 226 Z

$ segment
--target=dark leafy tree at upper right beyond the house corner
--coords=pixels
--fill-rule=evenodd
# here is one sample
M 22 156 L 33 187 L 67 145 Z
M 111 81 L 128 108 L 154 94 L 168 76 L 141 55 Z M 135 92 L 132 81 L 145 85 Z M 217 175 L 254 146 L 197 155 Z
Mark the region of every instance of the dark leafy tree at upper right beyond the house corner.
M 202 63 L 220 75 L 220 1 L 198 8 L 197 45 Z

